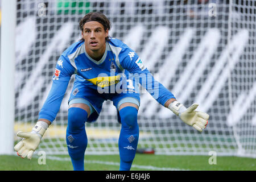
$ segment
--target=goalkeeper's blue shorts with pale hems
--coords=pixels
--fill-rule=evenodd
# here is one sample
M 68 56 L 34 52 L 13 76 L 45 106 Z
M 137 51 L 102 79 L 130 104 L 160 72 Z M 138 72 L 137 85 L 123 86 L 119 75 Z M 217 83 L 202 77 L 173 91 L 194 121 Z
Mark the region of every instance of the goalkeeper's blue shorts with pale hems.
M 129 93 L 98 93 L 98 90 L 92 89 L 81 81 L 75 80 L 68 105 L 77 103 L 88 105 L 90 107 L 90 116 L 87 122 L 94 122 L 98 119 L 102 110 L 102 104 L 106 100 L 113 101 L 114 106 L 117 108 L 118 122 L 120 122 L 119 106 L 126 102 L 136 104 L 138 107 L 140 104 L 138 92 L 132 92 L 130 90 Z

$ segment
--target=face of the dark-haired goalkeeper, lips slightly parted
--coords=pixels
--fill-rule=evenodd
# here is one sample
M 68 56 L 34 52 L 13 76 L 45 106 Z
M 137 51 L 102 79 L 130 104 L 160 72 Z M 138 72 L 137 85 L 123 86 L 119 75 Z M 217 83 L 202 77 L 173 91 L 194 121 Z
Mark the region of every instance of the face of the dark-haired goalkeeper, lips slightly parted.
M 105 38 L 109 35 L 101 23 L 91 21 L 84 24 L 82 38 L 85 40 L 86 52 L 90 54 L 104 53 L 106 48 Z

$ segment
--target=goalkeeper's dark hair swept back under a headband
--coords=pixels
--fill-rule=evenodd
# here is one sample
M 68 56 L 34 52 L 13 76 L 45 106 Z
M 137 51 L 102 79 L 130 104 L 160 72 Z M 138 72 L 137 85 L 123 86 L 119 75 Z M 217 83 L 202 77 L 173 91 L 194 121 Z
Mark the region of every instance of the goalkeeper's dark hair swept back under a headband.
M 90 21 L 96 21 L 98 23 L 101 23 L 102 26 L 104 27 L 104 30 L 110 30 L 112 27 L 112 24 L 110 20 L 101 12 L 91 12 L 86 14 L 79 22 L 79 28 L 81 31 L 84 31 L 84 24 L 86 22 Z M 81 38 L 80 40 L 84 40 L 84 38 Z M 106 40 L 109 40 L 109 36 L 106 37 Z

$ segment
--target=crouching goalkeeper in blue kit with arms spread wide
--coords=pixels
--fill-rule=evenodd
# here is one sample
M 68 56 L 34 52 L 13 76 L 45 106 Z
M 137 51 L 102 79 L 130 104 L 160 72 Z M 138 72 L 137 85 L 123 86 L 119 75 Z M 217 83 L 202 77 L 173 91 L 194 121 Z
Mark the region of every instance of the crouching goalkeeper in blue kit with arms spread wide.
M 39 112 L 31 133 L 18 132 L 23 139 L 14 149 L 22 158 L 31 159 L 40 140 L 55 119 L 69 80 L 76 75 L 68 105 L 66 141 L 74 170 L 84 170 L 87 146 L 85 122 L 95 122 L 106 100 L 117 108 L 121 131 L 118 140 L 119 170 L 130 170 L 139 140 L 137 121 L 141 84 L 159 104 L 168 107 L 182 121 L 202 131 L 209 115 L 196 111 L 197 104 L 186 108 L 152 77 L 137 53 L 121 40 L 110 38 L 111 23 L 102 13 L 88 13 L 79 23 L 81 40 L 68 47 L 57 61 L 52 87 Z M 170 68 L 171 69 L 171 68 Z

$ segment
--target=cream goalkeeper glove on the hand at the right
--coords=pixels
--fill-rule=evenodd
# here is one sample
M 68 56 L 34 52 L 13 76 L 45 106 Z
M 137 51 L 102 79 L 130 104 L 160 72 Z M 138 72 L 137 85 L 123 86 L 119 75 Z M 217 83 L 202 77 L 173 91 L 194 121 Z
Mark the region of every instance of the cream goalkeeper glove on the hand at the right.
M 187 109 L 180 102 L 174 101 L 171 102 L 168 108 L 187 125 L 193 126 L 197 131 L 202 132 L 208 124 L 209 115 L 201 111 L 195 111 L 198 106 L 198 104 L 192 104 Z

